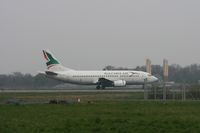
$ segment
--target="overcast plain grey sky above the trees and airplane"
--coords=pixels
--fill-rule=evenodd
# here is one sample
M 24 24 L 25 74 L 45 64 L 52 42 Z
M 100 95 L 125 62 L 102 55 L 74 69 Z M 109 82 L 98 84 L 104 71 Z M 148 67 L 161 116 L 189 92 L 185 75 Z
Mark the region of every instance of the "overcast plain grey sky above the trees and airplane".
M 0 0 L 0 73 L 200 62 L 199 0 Z

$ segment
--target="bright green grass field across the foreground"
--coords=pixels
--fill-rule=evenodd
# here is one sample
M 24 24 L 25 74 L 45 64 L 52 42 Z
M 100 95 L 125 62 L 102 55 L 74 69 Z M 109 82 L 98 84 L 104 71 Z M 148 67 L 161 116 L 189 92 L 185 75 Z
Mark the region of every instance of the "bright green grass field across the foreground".
M 5 97 L 8 94 L 1 99 Z M 121 98 L 92 103 L 0 104 L 0 133 L 36 132 L 199 133 L 200 102 Z

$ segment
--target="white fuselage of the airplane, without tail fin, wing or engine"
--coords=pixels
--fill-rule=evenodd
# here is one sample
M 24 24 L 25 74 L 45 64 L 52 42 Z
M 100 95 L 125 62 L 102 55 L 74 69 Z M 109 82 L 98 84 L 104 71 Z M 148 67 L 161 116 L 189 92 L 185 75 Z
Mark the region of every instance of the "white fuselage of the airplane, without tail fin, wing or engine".
M 58 71 L 57 75 L 47 75 L 50 78 L 72 84 L 96 85 L 100 78 L 110 81 L 123 80 L 126 85 L 152 83 L 158 79 L 149 73 L 142 71 Z

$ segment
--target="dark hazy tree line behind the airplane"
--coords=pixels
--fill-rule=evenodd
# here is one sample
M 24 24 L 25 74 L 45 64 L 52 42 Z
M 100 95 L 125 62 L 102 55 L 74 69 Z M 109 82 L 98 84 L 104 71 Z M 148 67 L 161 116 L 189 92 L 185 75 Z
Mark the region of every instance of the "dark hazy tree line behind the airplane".
M 114 67 L 108 65 L 103 70 L 140 70 L 145 71 L 145 66 L 137 66 L 136 68 Z M 160 65 L 152 65 L 152 74 L 163 79 L 163 68 Z M 192 64 L 189 66 L 181 67 L 180 65 L 173 64 L 169 66 L 169 81 L 177 83 L 195 84 L 200 80 L 200 65 Z M 0 89 L 1 88 L 47 88 L 63 84 L 61 81 L 53 80 L 45 77 L 44 75 L 31 75 L 15 72 L 13 74 L 0 75 Z

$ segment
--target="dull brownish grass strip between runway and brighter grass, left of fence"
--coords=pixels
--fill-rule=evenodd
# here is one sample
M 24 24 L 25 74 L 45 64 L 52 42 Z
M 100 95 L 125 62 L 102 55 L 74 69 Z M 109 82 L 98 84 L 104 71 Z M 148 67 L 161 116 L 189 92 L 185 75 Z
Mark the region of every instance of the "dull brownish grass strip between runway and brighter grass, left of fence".
M 80 98 L 82 102 L 88 101 L 121 101 L 121 100 L 141 100 L 144 93 L 118 93 L 118 92 L 56 92 L 56 93 L 0 93 L 0 104 L 9 100 L 21 101 L 24 103 L 48 103 L 51 99 L 67 100 L 76 102 Z

